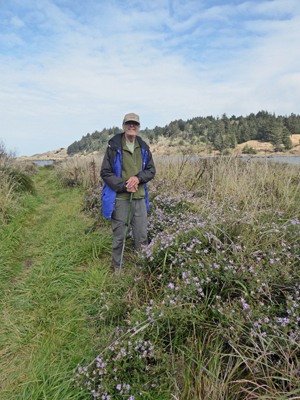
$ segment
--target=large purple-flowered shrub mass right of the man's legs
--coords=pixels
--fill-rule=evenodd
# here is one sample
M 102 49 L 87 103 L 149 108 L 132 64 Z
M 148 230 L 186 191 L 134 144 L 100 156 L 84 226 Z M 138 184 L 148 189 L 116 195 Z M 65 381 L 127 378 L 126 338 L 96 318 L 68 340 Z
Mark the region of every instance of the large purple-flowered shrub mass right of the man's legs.
M 160 204 L 167 201 L 160 196 Z M 274 218 L 266 210 L 260 221 L 250 222 L 238 210 L 234 218 L 226 210 L 213 211 L 209 218 L 194 214 L 182 220 L 169 214 L 172 224 L 155 232 L 142 251 L 146 270 L 164 286 L 170 304 L 180 305 L 180 312 L 200 309 L 202 318 L 224 324 L 227 337 L 236 337 L 236 329 L 228 327 L 240 322 L 249 325 L 253 337 L 263 329 L 264 337 L 288 333 L 294 342 L 300 335 L 299 220 L 278 212 L 276 222 L 264 222 Z M 237 230 L 248 235 L 236 236 Z M 291 302 L 292 309 L 286 309 Z

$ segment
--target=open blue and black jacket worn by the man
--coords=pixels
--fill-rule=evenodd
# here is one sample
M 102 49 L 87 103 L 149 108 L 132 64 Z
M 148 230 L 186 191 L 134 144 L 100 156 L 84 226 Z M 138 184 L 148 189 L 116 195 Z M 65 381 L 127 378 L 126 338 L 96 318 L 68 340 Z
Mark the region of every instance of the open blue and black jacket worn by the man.
M 118 133 L 108 142 L 108 148 L 100 172 L 100 176 L 104 181 L 102 190 L 102 214 L 108 219 L 111 219 L 117 193 L 127 192 L 126 182 L 121 178 L 123 135 L 124 132 Z M 143 160 L 143 169 L 136 176 L 140 181 L 140 185 L 144 184 L 146 207 L 147 211 L 149 211 L 149 198 L 146 183 L 154 178 L 155 166 L 147 143 L 145 143 L 140 136 L 136 136 L 136 139 L 139 142 Z

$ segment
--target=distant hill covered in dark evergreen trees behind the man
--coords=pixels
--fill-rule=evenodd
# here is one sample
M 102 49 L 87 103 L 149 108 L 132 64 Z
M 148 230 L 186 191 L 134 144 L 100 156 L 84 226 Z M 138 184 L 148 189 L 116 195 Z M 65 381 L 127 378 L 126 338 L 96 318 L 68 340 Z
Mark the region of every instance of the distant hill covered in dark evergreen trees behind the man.
M 68 147 L 68 155 L 94 151 L 104 154 L 108 140 L 122 131 L 113 127 L 88 133 Z M 230 152 L 239 143 L 259 140 L 272 143 L 275 151 L 284 151 L 293 147 L 290 136 L 300 134 L 300 115 L 275 116 L 267 111 L 259 111 L 246 117 L 232 115 L 229 118 L 226 114 L 221 118 L 195 117 L 187 121 L 175 120 L 165 127 L 145 128 L 140 133 L 150 144 L 167 138 L 170 145 L 202 143 L 220 152 Z

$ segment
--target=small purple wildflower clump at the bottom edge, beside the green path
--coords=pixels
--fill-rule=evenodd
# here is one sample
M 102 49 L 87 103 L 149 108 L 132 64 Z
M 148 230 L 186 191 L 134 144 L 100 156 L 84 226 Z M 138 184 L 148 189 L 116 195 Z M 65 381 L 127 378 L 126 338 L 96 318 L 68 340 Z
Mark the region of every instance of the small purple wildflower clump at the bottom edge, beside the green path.
M 124 340 L 120 328 L 116 335 L 120 339 L 114 340 L 92 365 L 78 365 L 73 381 L 96 399 L 143 398 L 160 380 L 154 345 L 141 337 Z

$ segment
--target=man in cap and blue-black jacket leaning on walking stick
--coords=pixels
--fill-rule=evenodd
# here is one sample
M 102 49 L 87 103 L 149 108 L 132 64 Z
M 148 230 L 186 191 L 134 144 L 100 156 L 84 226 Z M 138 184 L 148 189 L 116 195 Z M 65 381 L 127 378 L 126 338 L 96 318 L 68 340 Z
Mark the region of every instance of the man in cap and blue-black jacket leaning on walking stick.
M 155 176 L 155 166 L 149 146 L 137 136 L 140 118 L 134 113 L 123 119 L 123 133 L 108 142 L 102 167 L 104 181 L 102 213 L 111 219 L 113 231 L 112 258 L 119 268 L 126 229 L 130 194 L 133 193 L 129 224 L 132 226 L 134 247 L 147 245 L 147 211 L 149 199 L 146 183 Z

